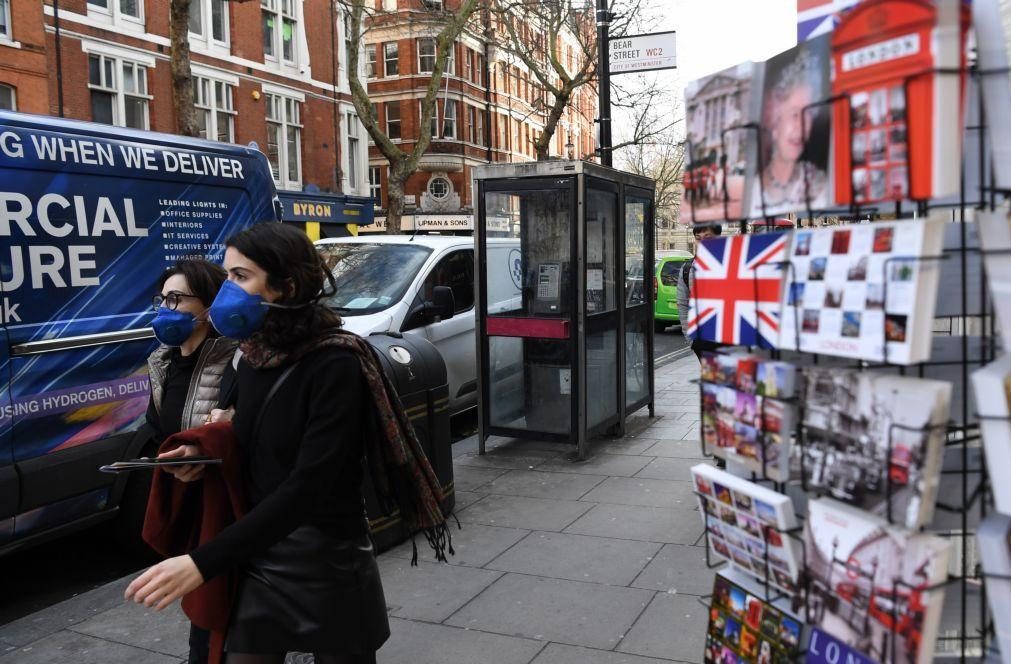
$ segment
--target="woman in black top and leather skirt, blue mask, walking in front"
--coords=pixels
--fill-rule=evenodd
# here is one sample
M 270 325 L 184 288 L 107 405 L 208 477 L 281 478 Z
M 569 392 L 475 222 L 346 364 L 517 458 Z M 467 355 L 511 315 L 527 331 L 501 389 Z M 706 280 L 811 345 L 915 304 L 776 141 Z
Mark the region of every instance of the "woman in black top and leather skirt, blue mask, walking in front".
M 189 555 L 146 571 L 125 597 L 164 608 L 232 571 L 224 664 L 282 664 L 292 651 L 312 652 L 316 664 L 374 664 L 389 624 L 365 468 L 380 501 L 445 560 L 439 481 L 375 352 L 323 305 L 334 276 L 305 234 L 261 223 L 226 247 L 228 281 L 208 315 L 243 340 L 233 433 L 249 509 Z M 166 469 L 182 481 L 204 470 Z

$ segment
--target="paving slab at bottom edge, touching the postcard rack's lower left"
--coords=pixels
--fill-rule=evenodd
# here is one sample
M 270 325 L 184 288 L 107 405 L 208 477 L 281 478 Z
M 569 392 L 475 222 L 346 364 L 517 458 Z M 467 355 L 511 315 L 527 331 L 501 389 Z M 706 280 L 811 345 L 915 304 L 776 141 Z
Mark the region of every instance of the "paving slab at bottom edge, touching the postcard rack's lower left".
M 709 609 L 694 595 L 658 593 L 616 648 L 619 652 L 701 662 Z

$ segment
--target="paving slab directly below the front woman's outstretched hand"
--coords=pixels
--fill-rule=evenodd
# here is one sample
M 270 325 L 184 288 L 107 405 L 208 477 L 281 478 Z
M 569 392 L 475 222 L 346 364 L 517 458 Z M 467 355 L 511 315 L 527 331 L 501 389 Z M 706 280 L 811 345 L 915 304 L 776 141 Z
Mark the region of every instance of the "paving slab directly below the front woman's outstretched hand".
M 73 628 L 74 632 L 133 646 L 163 655 L 186 658 L 189 653 L 189 619 L 179 602 L 163 611 L 143 604 L 122 602 Z

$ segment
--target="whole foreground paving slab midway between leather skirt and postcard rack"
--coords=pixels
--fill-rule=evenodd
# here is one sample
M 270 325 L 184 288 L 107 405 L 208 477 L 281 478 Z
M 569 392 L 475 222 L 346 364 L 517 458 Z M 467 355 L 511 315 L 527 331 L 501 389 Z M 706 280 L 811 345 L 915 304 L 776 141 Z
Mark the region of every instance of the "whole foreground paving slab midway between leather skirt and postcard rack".
M 634 588 L 507 574 L 446 624 L 612 650 L 649 604 L 652 594 Z

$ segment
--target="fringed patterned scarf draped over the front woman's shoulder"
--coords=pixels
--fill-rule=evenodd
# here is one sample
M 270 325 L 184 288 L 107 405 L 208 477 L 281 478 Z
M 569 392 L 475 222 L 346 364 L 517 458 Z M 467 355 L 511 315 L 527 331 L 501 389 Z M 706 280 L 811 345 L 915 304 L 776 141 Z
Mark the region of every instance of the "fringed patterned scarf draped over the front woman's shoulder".
M 424 533 L 436 553 L 436 560 L 446 562 L 446 553 L 454 555 L 453 540 L 440 503 L 445 496 L 415 434 L 389 377 L 383 371 L 375 350 L 354 333 L 334 327 L 319 338 L 287 353 L 267 348 L 252 337 L 241 346 L 243 359 L 258 369 L 298 361 L 311 351 L 340 348 L 353 353 L 361 363 L 368 392 L 372 396 L 374 417 L 365 435 L 365 456 L 373 487 L 388 513 L 399 509 L 411 538 Z M 411 565 L 418 564 L 418 546 L 413 547 Z

